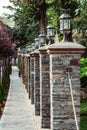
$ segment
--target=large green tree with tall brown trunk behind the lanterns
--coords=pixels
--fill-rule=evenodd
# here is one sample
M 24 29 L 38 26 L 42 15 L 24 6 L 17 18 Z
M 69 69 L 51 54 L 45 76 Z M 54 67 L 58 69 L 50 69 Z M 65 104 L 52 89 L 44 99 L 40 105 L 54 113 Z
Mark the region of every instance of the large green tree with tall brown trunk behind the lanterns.
M 15 2 L 17 3 L 17 0 Z M 19 3 L 18 0 L 19 8 L 14 15 L 16 26 L 13 29 L 18 46 L 31 44 L 39 33 L 46 34 L 46 26 L 49 23 L 59 30 L 59 16 L 67 12 L 73 18 L 78 6 L 75 0 L 28 0 Z

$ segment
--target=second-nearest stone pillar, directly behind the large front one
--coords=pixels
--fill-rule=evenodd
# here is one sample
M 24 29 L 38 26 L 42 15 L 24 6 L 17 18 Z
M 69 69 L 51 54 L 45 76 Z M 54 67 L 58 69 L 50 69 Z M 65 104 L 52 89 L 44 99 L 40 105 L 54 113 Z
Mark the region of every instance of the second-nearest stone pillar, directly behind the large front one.
M 50 76 L 49 55 L 46 47 L 40 51 L 40 103 L 41 103 L 41 127 L 50 128 Z

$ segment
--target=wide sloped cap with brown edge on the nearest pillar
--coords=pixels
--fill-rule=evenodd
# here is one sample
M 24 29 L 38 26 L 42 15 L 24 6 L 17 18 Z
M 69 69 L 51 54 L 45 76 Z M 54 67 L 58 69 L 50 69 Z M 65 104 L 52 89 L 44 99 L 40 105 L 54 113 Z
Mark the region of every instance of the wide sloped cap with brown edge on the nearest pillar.
M 83 54 L 86 47 L 74 42 L 57 42 L 47 49 L 49 54 Z

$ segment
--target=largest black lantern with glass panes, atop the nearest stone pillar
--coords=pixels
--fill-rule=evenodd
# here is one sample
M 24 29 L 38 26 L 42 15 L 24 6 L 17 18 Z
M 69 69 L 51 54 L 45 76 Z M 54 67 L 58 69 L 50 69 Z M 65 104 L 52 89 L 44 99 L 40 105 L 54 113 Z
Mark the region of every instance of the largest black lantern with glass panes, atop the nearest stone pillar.
M 70 33 L 70 19 L 71 17 L 68 14 L 62 14 L 60 17 L 60 32 L 64 34 L 64 39 L 66 39 L 66 35 Z

